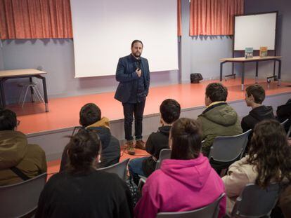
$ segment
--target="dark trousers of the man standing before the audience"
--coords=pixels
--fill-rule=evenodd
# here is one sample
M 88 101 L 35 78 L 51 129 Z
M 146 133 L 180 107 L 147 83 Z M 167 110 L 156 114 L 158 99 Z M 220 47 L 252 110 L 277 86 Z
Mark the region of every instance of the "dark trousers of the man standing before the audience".
M 136 140 L 142 139 L 143 136 L 143 111 L 145 109 L 145 101 L 136 104 L 122 103 L 124 114 L 124 132 L 125 139 L 132 141 L 132 122 L 134 121 L 134 135 Z

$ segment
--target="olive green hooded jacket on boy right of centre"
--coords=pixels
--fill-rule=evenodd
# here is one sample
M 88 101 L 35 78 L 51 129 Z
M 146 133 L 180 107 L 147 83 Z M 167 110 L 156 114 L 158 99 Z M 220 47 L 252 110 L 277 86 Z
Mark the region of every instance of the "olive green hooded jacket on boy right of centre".
M 226 102 L 214 104 L 198 116 L 202 124 L 202 153 L 209 155 L 210 147 L 216 136 L 231 136 L 243 133 L 240 119 L 235 110 Z

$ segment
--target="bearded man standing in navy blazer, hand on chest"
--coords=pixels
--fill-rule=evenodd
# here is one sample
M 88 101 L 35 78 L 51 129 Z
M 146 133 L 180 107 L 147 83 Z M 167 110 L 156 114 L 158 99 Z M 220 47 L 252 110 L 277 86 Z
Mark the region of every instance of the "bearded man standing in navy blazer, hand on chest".
M 150 70 L 148 60 L 141 57 L 142 52 L 143 43 L 140 40 L 134 40 L 131 43 L 131 54 L 120 57 L 116 69 L 116 80 L 119 81 L 119 85 L 115 99 L 122 102 L 127 151 L 131 155 L 135 154 L 134 137 L 131 133 L 133 121 L 136 148 L 145 149 L 145 142 L 142 140 L 143 110 L 150 86 Z

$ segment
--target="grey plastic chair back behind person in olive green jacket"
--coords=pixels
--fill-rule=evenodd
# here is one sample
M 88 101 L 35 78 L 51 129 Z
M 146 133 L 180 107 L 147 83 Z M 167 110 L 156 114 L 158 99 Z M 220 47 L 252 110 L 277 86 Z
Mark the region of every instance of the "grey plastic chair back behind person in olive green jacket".
M 209 152 L 210 163 L 219 165 L 217 169 L 221 170 L 240 160 L 245 152 L 251 131 L 247 130 L 240 135 L 216 137 Z

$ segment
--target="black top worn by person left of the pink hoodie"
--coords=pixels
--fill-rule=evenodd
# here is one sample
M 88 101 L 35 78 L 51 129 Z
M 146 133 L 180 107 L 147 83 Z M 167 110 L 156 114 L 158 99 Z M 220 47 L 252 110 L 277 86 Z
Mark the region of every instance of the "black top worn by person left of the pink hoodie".
M 44 186 L 35 217 L 133 217 L 131 193 L 113 173 L 64 171 Z

